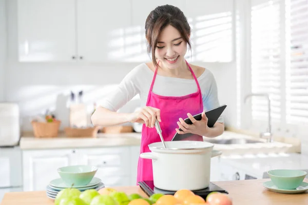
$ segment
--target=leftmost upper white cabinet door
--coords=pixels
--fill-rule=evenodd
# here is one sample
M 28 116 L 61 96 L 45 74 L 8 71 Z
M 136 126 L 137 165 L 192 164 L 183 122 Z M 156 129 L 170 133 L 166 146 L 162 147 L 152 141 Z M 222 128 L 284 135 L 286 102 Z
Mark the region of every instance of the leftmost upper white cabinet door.
M 72 61 L 76 55 L 74 0 L 18 0 L 20 61 Z

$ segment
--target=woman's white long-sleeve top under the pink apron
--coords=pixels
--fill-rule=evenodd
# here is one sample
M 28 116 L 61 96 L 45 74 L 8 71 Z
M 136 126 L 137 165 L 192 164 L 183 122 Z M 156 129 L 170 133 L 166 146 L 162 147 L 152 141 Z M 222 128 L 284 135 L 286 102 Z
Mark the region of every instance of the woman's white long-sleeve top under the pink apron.
M 140 95 L 140 106 L 146 106 L 153 75 L 154 72 L 145 63 L 136 66 L 124 77 L 117 89 L 104 98 L 101 106 L 111 111 L 117 111 L 137 94 Z M 202 93 L 204 110 L 220 106 L 213 73 L 205 69 L 197 79 Z M 183 96 L 197 92 L 197 90 L 195 79 L 166 77 L 157 74 L 152 92 L 163 96 Z M 223 122 L 223 117 L 220 116 L 217 122 Z

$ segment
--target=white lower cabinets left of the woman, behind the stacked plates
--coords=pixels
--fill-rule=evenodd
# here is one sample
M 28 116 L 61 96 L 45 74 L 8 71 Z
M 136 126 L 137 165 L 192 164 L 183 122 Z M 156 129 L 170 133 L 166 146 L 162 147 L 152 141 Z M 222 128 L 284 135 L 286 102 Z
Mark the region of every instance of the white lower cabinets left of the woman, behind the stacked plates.
M 70 165 L 98 166 L 95 177 L 106 187 L 136 185 L 139 150 L 140 146 L 24 150 L 24 190 L 45 190 L 60 178 L 57 168 Z

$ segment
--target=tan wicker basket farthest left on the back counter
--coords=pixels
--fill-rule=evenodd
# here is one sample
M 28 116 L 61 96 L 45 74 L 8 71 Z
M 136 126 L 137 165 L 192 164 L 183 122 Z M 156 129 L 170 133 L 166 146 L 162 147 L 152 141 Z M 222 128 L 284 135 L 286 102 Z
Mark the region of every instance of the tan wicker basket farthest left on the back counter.
M 34 137 L 57 137 L 61 121 L 53 122 L 31 122 L 34 132 Z

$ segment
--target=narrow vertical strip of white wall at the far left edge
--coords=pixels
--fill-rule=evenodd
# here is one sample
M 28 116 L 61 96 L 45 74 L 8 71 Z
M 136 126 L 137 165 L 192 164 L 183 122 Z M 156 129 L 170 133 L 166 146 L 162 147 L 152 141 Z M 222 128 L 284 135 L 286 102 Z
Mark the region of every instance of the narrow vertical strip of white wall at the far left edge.
M 5 61 L 6 61 L 6 10 L 5 0 L 0 0 L 0 101 L 5 100 Z

